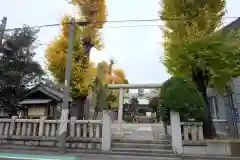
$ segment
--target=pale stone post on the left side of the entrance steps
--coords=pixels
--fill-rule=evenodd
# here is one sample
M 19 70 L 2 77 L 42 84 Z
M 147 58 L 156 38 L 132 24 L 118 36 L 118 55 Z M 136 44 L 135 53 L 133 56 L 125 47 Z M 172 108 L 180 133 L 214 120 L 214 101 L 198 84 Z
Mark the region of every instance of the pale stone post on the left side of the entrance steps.
M 102 150 L 109 151 L 112 144 L 111 119 L 107 111 L 102 116 Z

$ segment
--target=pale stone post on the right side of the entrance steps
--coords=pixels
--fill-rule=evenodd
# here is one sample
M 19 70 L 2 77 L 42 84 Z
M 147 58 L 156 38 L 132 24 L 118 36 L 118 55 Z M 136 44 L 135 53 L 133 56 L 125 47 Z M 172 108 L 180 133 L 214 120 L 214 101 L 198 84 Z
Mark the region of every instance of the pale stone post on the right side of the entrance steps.
M 171 111 L 170 122 L 173 152 L 175 154 L 182 154 L 183 147 L 182 147 L 181 122 L 178 112 Z

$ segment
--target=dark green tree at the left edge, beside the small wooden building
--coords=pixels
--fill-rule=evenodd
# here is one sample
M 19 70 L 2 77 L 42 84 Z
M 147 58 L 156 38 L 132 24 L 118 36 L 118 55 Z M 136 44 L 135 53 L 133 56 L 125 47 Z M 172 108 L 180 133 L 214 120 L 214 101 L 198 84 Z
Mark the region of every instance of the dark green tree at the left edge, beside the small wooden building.
M 0 106 L 11 114 L 17 113 L 17 103 L 27 85 L 44 72 L 36 61 L 38 30 L 24 26 L 5 35 L 0 58 Z

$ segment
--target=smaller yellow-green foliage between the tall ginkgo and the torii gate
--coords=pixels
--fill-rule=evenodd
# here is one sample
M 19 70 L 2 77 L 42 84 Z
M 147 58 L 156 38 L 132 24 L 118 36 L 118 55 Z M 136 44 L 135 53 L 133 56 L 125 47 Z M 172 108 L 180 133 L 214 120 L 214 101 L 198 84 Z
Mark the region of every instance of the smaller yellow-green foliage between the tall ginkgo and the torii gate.
M 124 84 L 128 82 L 124 71 L 121 69 L 112 70 L 111 64 L 105 61 L 100 62 L 97 65 L 96 75 L 93 77 L 92 84 L 90 85 L 92 106 L 95 108 L 94 118 L 102 110 L 118 107 L 119 90 L 108 89 L 107 84 Z

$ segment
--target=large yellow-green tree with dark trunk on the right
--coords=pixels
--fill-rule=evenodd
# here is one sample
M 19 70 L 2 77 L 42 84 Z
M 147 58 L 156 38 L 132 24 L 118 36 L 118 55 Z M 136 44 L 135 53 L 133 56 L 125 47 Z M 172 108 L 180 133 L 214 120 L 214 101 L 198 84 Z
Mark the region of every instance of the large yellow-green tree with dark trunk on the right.
M 215 31 L 221 25 L 225 0 L 163 0 L 164 64 L 172 75 L 191 79 L 208 106 L 203 121 L 205 138 L 214 138 L 207 87 L 221 89 L 233 75 L 239 75 L 238 33 Z

